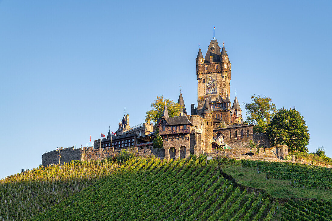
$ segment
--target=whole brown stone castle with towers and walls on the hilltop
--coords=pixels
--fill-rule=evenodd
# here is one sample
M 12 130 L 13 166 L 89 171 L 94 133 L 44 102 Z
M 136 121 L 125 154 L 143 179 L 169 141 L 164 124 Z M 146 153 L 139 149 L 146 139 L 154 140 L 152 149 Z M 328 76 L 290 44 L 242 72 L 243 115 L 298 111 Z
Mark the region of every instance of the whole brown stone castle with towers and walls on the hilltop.
M 205 57 L 199 49 L 196 75 L 197 107 L 191 104 L 190 113 L 180 90 L 178 103 L 182 108 L 178 116 L 169 116 L 165 104 L 156 125 L 141 123 L 130 127 L 126 114 L 119 122 L 116 135 L 109 130 L 106 138 L 94 141 L 93 147 L 71 147 L 45 153 L 42 165 L 61 164 L 73 159 L 101 160 L 121 151 L 167 160 L 190 158 L 190 154 L 276 160 L 288 155 L 287 146 L 271 147 L 267 136 L 253 134 L 253 124 L 243 124 L 236 94 L 233 103 L 230 100 L 231 62 L 224 45 L 219 47 L 217 40 L 211 40 Z M 156 128 L 159 134 L 155 133 Z M 162 148 L 153 148 L 156 135 L 162 139 Z M 257 143 L 259 148 L 252 150 L 250 142 Z

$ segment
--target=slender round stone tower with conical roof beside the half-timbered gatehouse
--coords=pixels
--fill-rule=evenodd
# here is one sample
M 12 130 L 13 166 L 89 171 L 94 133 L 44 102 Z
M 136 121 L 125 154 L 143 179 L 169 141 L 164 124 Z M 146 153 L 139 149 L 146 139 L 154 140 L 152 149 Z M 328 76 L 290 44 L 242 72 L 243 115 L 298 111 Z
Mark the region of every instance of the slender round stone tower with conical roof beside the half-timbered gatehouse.
M 210 109 L 210 104 L 208 99 L 205 99 L 204 106 L 201 113 L 203 119 L 205 120 L 204 128 L 205 128 L 205 152 L 212 151 L 212 138 L 213 138 L 213 119 L 212 112 Z M 204 150 L 204 147 L 202 147 Z

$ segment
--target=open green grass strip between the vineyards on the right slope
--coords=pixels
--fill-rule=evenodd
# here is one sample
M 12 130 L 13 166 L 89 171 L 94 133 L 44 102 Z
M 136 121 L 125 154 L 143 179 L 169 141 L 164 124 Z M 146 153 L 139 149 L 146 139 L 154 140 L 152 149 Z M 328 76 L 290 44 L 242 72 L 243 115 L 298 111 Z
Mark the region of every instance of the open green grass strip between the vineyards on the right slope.
M 257 173 L 255 168 L 227 166 L 222 171 L 232 176 L 237 183 L 263 189 L 274 198 L 332 199 L 332 190 L 292 188 L 287 180 L 266 180 L 266 173 Z M 243 176 L 238 176 L 241 173 Z

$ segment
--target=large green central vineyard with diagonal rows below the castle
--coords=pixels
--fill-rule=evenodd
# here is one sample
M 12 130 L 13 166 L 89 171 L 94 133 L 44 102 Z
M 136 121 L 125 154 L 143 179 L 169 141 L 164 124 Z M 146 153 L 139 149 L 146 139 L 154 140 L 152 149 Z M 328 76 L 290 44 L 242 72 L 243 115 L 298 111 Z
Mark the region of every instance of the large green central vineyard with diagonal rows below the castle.
M 31 220 L 270 220 L 275 208 L 234 188 L 214 160 L 137 159 Z

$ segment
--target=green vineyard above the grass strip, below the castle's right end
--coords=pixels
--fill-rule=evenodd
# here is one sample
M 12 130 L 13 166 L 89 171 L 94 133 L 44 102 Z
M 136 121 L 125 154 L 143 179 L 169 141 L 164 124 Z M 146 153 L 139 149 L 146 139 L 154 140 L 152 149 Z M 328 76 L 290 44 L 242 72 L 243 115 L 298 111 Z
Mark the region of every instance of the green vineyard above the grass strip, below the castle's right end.
M 290 180 L 292 187 L 332 189 L 332 169 L 307 164 L 241 160 L 242 167 L 257 168 L 266 179 Z

